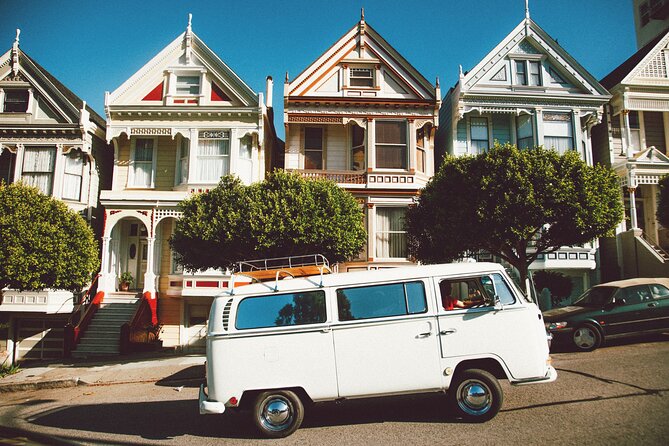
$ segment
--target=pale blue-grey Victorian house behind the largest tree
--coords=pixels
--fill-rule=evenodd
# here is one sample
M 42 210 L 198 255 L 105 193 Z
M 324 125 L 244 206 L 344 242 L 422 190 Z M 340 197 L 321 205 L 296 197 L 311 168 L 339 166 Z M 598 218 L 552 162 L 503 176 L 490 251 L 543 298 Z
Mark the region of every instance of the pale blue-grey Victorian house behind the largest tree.
M 475 155 L 495 142 L 577 151 L 592 165 L 591 129 L 608 92 L 556 40 L 525 19 L 459 80 L 441 106 L 437 159 Z M 483 255 L 483 259 L 490 256 Z M 572 295 L 587 288 L 597 267 L 596 242 L 540 256 L 530 270 L 571 277 Z

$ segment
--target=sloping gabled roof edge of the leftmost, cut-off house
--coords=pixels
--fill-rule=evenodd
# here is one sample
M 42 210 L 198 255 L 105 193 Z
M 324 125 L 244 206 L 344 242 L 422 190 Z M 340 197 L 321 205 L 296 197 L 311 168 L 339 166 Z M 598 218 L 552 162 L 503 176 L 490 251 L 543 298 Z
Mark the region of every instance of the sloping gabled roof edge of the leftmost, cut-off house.
M 56 109 L 61 119 L 72 124 L 79 124 L 84 101 L 19 48 L 18 35 L 19 31 L 17 30 L 17 38 L 13 47 L 0 56 L 0 73 L 4 73 L 5 71 L 2 67 L 7 66 L 7 68 L 11 68 L 11 71 L 5 74 L 3 79 L 13 72 L 19 76 L 23 76 L 26 82 L 35 90 L 41 92 L 43 99 Z M 15 54 L 18 57 L 14 58 Z M 18 65 L 14 66 L 15 64 Z M 104 128 L 105 121 L 95 110 L 86 105 L 86 111 L 88 111 L 91 121 Z

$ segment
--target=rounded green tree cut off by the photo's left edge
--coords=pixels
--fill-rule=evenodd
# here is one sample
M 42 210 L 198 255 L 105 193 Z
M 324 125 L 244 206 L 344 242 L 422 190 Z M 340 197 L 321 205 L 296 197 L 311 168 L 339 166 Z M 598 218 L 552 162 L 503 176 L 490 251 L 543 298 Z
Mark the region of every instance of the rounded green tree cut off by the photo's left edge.
M 93 231 L 80 215 L 37 188 L 0 183 L 0 293 L 79 291 L 99 266 Z

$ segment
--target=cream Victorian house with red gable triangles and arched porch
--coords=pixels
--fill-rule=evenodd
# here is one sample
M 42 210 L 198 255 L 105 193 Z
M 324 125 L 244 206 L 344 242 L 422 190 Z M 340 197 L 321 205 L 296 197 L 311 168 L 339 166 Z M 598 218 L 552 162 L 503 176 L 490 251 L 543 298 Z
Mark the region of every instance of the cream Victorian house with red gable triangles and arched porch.
M 223 272 L 190 274 L 175 262 L 169 238 L 177 205 L 226 174 L 245 184 L 264 178 L 274 144 L 271 86 L 268 78 L 266 105 L 189 19 L 184 33 L 106 93 L 114 172 L 101 194 L 99 290 L 115 302 L 141 293 L 163 347 L 202 347 L 212 296 L 227 286 Z M 122 275 L 133 279 L 125 294 Z

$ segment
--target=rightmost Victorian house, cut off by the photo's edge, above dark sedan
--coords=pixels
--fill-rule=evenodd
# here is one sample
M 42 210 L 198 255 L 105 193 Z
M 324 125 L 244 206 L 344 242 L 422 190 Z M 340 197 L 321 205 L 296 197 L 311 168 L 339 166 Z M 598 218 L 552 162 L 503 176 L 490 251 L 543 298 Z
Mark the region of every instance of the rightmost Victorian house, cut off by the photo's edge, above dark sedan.
M 669 174 L 669 32 L 601 80 L 613 98 L 593 133 L 595 159 L 620 177 L 625 220 L 602 240 L 607 279 L 669 276 L 669 228 L 657 221 L 658 182 Z

